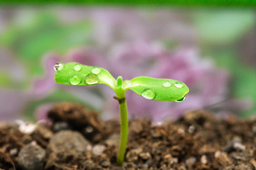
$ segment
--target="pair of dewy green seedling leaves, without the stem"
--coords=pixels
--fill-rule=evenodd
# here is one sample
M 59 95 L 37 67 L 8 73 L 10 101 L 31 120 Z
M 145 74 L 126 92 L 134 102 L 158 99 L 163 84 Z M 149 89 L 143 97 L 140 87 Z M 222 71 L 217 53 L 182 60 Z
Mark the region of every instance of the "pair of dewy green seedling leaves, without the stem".
M 77 62 L 56 63 L 54 65 L 54 80 L 60 84 L 87 86 L 94 84 L 106 84 L 113 90 L 119 87 L 117 80 L 103 68 L 87 66 Z M 189 88 L 178 80 L 155 79 L 151 77 L 136 77 L 132 80 L 124 80 L 123 90 L 133 90 L 145 99 L 161 101 L 182 101 Z

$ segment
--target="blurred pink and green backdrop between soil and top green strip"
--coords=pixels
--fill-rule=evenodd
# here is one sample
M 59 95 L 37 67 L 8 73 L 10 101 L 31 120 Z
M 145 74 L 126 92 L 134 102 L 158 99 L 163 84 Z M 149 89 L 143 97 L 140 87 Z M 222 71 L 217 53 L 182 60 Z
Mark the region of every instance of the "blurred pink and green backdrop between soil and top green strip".
M 163 7 L 0 7 L 0 119 L 44 119 L 59 101 L 119 116 L 110 88 L 54 82 L 54 63 L 101 66 L 116 78 L 185 82 L 180 102 L 127 91 L 130 118 L 161 122 L 188 110 L 256 116 L 256 14 L 252 9 Z

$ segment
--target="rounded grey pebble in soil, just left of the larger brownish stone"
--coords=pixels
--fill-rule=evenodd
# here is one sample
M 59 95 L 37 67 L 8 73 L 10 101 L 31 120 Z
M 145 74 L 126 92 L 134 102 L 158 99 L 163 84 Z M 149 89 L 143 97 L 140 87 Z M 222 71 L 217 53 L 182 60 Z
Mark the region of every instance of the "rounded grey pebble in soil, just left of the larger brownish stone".
M 24 170 L 41 170 L 44 165 L 44 156 L 44 149 L 33 142 L 21 149 L 18 163 Z

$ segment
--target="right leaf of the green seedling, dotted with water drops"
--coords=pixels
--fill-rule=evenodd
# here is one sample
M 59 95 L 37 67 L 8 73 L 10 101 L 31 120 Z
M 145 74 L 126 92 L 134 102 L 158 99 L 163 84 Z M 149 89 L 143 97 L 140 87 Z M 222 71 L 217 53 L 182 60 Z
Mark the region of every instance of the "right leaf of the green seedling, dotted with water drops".
M 150 77 L 136 77 L 133 80 L 124 80 L 123 89 L 133 90 L 145 99 L 160 101 L 180 101 L 189 92 L 189 88 L 181 81 Z

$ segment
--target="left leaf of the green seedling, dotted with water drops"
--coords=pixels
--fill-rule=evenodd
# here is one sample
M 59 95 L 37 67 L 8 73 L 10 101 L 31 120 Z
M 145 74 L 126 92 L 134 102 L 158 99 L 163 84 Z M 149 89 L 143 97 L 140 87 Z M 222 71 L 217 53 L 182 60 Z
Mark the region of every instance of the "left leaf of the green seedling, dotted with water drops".
M 106 84 L 114 89 L 116 80 L 101 67 L 87 66 L 77 62 L 56 63 L 54 80 L 60 84 L 87 86 Z

